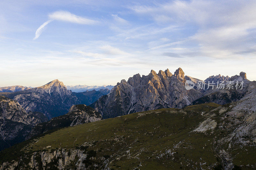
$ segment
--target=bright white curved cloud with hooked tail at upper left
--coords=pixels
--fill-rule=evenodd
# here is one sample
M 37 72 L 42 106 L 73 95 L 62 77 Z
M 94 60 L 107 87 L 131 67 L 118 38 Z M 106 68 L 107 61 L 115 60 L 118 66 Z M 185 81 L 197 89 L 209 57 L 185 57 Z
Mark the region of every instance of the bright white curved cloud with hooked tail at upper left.
M 53 13 L 50 13 L 48 15 L 49 20 L 44 22 L 35 33 L 35 37 L 33 40 L 36 40 L 44 31 L 44 27 L 52 22 L 53 20 L 59 20 L 59 21 L 64 21 L 64 22 L 71 22 L 71 23 L 76 23 L 76 24 L 84 24 L 84 25 L 94 25 L 98 24 L 99 21 L 97 20 L 92 20 L 84 17 L 77 16 L 75 14 L 72 14 L 68 11 L 55 11 Z

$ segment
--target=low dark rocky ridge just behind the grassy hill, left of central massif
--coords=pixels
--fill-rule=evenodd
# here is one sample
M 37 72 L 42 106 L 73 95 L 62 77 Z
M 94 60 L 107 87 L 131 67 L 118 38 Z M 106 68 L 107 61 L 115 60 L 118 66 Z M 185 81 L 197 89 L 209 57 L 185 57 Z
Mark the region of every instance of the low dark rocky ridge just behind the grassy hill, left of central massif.
M 37 124 L 27 138 L 45 133 L 52 129 L 75 126 L 78 124 L 101 120 L 102 116 L 92 107 L 86 105 L 73 105 L 67 114 L 54 117 L 48 122 Z

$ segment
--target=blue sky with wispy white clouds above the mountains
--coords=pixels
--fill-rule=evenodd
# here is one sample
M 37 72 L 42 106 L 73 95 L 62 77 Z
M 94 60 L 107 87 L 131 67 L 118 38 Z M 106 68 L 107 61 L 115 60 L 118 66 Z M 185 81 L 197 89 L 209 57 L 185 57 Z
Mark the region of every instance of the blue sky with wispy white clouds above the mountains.
M 256 80 L 255 0 L 1 0 L 0 86 L 116 85 L 179 67 Z

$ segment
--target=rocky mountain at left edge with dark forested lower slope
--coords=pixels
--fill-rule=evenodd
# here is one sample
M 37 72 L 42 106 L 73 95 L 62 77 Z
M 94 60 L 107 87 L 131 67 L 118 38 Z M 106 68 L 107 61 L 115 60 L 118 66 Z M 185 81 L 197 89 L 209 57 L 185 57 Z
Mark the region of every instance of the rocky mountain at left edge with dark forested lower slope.
M 48 121 L 40 112 L 29 112 L 18 101 L 0 96 L 0 150 L 25 140 L 32 127 Z

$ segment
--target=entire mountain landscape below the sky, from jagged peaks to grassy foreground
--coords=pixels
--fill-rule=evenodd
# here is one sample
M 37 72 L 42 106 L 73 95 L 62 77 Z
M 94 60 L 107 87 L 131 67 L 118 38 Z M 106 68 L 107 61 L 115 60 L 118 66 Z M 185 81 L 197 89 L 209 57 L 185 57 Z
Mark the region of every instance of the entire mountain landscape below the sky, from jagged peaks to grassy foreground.
M 187 80 L 202 82 L 178 68 L 111 90 L 72 92 L 53 80 L 2 92 L 1 149 L 28 140 L 0 153 L 0 169 L 255 169 L 256 81 L 216 75 L 205 79 L 213 88 L 187 90 Z

